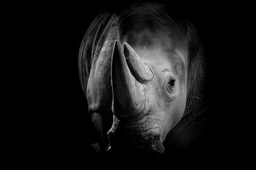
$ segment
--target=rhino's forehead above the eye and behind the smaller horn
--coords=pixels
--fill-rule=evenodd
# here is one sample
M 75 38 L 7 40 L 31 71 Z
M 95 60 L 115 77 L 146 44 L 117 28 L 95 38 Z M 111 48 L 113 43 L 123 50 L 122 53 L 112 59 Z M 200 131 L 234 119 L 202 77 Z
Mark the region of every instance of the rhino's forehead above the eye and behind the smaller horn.
M 177 39 L 163 31 L 131 31 L 125 38 L 140 58 L 157 72 L 180 74 L 186 69 L 186 39 Z

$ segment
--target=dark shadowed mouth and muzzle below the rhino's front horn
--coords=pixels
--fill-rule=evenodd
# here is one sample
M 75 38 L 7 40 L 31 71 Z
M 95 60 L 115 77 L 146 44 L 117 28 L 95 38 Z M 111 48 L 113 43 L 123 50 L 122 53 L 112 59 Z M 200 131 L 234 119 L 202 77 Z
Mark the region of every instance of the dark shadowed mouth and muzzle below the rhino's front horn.
M 113 150 L 122 152 L 163 153 L 164 146 L 161 131 L 156 124 L 125 125 L 114 121 L 108 132 L 109 145 Z

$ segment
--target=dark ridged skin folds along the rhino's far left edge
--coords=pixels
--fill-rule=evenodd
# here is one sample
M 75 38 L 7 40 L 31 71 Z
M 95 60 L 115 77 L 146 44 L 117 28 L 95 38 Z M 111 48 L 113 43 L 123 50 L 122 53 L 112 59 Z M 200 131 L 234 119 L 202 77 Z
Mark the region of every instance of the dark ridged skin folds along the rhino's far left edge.
M 93 60 L 97 60 L 106 41 L 108 32 L 117 22 L 115 13 L 100 12 L 88 27 L 79 49 L 78 67 L 81 85 L 86 94 L 89 74 Z

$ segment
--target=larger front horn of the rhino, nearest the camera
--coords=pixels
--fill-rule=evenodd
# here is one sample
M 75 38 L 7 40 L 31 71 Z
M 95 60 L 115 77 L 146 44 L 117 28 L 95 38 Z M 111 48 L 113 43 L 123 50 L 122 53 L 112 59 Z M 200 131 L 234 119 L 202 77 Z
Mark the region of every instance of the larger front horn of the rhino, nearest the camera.
M 124 48 L 131 53 L 127 43 L 125 43 Z M 132 57 L 129 59 L 131 61 L 129 62 L 130 68 L 134 73 L 138 73 L 138 76 L 147 74 L 143 74 L 140 68 L 139 70 L 136 69 L 138 68 L 137 59 L 132 60 Z M 132 76 L 118 40 L 115 41 L 111 61 L 111 84 L 113 92 L 112 111 L 116 117 L 131 117 L 144 110 L 146 98 L 143 85 Z

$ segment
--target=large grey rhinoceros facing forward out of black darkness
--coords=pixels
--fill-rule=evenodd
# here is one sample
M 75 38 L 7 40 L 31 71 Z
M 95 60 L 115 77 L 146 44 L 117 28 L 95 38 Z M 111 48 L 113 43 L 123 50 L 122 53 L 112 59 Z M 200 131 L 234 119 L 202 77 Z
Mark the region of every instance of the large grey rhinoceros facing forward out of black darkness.
M 204 103 L 204 48 L 163 4 L 100 12 L 79 50 L 79 77 L 102 151 L 162 154 Z

